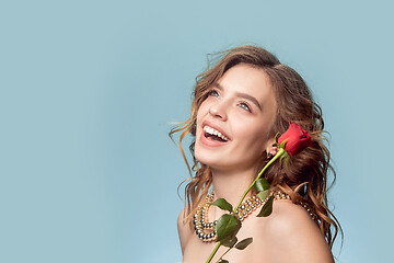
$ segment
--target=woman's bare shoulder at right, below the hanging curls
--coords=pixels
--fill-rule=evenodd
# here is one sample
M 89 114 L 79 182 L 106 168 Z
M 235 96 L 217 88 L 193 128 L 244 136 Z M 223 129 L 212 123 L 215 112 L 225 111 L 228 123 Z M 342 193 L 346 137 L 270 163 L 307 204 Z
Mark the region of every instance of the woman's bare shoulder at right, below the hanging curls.
M 260 226 L 256 241 L 269 244 L 270 262 L 334 262 L 317 225 L 290 201 L 275 201 L 273 214 Z

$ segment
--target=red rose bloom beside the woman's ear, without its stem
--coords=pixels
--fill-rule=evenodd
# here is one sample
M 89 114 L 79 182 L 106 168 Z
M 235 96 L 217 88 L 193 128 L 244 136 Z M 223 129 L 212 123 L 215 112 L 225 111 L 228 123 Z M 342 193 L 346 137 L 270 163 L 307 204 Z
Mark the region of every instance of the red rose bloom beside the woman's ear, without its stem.
M 298 124 L 290 123 L 290 127 L 279 137 L 279 145 L 286 140 L 285 150 L 290 156 L 296 156 L 309 146 L 312 146 L 312 139 L 308 132 L 303 130 Z

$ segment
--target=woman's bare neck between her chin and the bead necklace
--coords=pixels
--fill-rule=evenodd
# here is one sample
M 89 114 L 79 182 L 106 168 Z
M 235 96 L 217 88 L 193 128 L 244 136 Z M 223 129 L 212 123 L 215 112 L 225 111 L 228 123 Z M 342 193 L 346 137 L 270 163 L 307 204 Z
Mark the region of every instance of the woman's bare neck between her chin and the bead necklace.
M 216 198 L 224 198 L 233 208 L 240 202 L 243 193 L 255 179 L 255 169 L 232 172 L 232 171 L 212 171 L 212 185 Z

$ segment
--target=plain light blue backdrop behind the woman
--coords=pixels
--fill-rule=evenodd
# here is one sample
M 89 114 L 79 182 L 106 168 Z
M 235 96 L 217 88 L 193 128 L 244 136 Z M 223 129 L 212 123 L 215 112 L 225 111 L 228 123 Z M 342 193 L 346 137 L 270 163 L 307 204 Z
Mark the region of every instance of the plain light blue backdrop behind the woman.
M 275 3 L 274 3 L 275 2 Z M 179 262 L 169 139 L 207 54 L 258 44 L 323 107 L 338 262 L 392 258 L 390 1 L 3 1 L 0 262 Z M 181 195 L 182 192 L 181 192 Z

